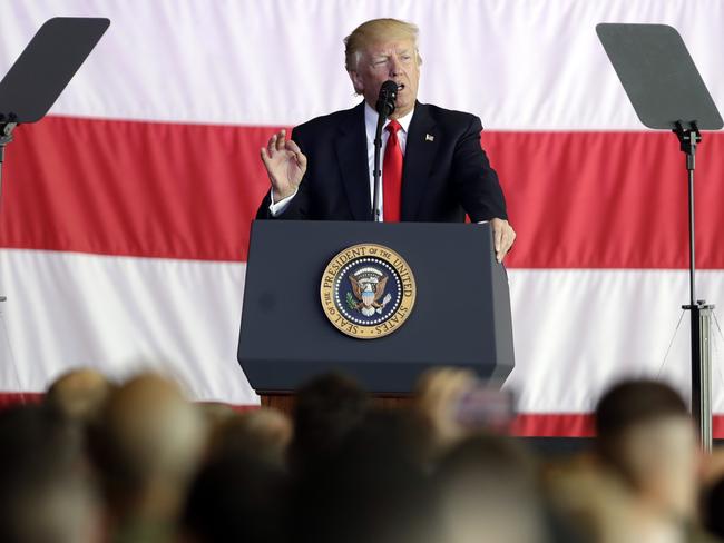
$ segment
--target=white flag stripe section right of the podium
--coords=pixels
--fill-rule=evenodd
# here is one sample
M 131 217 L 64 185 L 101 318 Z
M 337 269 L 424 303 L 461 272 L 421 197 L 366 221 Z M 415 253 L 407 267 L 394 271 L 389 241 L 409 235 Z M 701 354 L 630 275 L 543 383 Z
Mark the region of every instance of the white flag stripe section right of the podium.
M 688 300 L 686 272 L 518 269 L 510 284 L 517 365 L 508 386 L 521 411 L 590 412 L 612 382 L 659 371 L 688 397 L 688 314 L 674 336 Z M 699 272 L 697 292 L 722 312 L 724 272 Z M 716 327 L 713 358 L 713 405 L 724 413 L 724 338 Z

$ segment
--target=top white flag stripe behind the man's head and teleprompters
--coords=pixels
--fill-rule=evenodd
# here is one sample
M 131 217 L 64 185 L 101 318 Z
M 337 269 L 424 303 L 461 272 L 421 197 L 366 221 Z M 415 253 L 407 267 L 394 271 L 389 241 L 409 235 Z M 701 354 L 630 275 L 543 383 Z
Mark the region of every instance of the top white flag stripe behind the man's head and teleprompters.
M 724 107 L 721 0 L 4 0 L 0 73 L 58 14 L 111 27 L 53 113 L 287 125 L 356 103 L 342 39 L 398 17 L 421 28 L 420 99 L 490 129 L 640 129 L 599 22 L 676 27 Z

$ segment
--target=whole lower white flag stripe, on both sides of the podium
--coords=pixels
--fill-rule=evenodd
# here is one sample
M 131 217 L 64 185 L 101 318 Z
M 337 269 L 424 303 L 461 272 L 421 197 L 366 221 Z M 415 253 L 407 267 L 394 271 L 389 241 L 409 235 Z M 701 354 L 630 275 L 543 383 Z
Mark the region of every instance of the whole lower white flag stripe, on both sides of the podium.
M 124 377 L 153 367 L 197 399 L 256 404 L 236 363 L 244 264 L 0 251 L 9 296 L 1 391 L 42 391 L 91 365 Z M 724 307 L 724 272 L 701 272 L 699 293 Z M 657 375 L 686 302 L 679 270 L 510 272 L 517 366 L 508 386 L 530 413 L 589 412 L 624 375 Z M 0 342 L 1 337 L 0 330 Z M 724 413 L 724 342 L 715 328 L 714 407 Z M 689 381 L 687 317 L 662 371 Z

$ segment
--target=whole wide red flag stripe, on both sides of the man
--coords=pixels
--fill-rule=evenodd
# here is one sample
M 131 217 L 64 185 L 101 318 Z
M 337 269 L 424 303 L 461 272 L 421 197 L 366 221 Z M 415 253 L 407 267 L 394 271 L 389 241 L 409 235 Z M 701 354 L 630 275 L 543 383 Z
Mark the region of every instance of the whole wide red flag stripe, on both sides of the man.
M 8 147 L 6 247 L 246 258 L 274 127 L 50 117 Z M 509 266 L 685 268 L 686 177 L 667 132 L 483 132 L 518 241 Z M 724 268 L 724 135 L 697 160 L 701 268 Z

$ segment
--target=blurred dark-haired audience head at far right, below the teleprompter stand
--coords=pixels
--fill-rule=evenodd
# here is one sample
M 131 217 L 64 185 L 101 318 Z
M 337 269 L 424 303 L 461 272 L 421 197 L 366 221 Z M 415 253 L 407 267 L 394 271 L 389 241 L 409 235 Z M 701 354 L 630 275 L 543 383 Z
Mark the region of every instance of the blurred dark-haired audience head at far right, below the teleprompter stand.
M 615 385 L 596 407 L 597 452 L 635 495 L 662 513 L 692 517 L 699 450 L 681 395 L 655 381 Z

